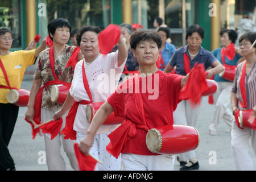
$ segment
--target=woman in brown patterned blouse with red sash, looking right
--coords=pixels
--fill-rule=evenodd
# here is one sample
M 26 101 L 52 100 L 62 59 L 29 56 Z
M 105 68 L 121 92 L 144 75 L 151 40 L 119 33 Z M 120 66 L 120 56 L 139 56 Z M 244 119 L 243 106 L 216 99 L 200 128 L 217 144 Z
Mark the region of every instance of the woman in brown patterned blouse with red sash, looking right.
M 48 121 L 52 119 L 53 114 L 61 107 L 61 104 L 51 101 L 50 93 L 53 84 L 59 84 L 59 82 L 68 84 L 73 78 L 74 65 L 66 68 L 67 62 L 76 48 L 75 46 L 70 47 L 67 45 L 70 31 L 71 25 L 68 20 L 62 18 L 53 19 L 48 24 L 48 32 L 53 46 L 43 51 L 39 56 L 38 67 L 30 90 L 30 99 L 26 112 L 27 121 L 35 119 L 41 122 Z M 75 63 L 79 59 L 79 56 L 77 56 Z M 44 85 L 41 88 L 42 82 Z M 40 104 L 40 100 L 42 100 L 42 104 Z M 38 104 L 39 109 L 37 107 Z M 65 123 L 65 118 L 63 121 Z M 61 139 L 72 168 L 77 170 L 77 162 L 73 151 L 74 142 L 72 140 L 64 140 L 60 134 L 51 139 L 51 135 L 46 133 L 44 134 L 44 141 L 48 169 L 66 169 L 65 161 L 61 156 Z

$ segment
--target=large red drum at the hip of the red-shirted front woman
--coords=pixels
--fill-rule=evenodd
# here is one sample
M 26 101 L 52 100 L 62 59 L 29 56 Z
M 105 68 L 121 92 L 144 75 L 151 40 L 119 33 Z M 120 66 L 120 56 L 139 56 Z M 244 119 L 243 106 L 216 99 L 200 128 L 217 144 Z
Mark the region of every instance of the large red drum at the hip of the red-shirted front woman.
M 199 133 L 186 125 L 165 125 L 148 131 L 148 150 L 157 154 L 181 154 L 195 150 L 199 145 Z

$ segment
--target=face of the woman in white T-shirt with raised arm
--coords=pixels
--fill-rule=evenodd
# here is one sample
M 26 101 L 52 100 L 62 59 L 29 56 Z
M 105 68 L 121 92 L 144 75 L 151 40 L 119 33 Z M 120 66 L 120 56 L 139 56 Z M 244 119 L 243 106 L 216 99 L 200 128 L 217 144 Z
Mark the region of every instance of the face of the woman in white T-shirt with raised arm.
M 82 34 L 80 49 L 85 57 L 93 57 L 100 53 L 96 32 L 86 31 Z

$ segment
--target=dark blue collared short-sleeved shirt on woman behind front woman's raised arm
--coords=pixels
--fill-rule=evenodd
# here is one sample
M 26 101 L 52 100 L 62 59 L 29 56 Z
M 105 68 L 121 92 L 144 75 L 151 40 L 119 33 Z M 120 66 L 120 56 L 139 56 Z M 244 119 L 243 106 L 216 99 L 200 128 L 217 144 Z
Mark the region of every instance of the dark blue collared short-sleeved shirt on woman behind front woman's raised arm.
M 184 64 L 183 64 L 183 54 L 187 53 L 188 57 L 189 57 L 189 62 L 190 62 L 190 68 L 192 69 L 195 65 L 195 63 L 204 63 L 204 68 L 205 70 L 208 67 L 212 66 L 212 63 L 214 61 L 217 60 L 217 58 L 215 56 L 213 56 L 212 52 L 207 51 L 206 49 L 204 49 L 203 47 L 200 46 L 200 51 L 199 53 L 196 55 L 196 57 L 194 57 L 193 60 L 191 60 L 191 57 L 189 56 L 188 53 L 188 46 L 185 47 L 181 47 L 179 49 L 177 49 L 174 53 L 174 55 L 172 55 L 172 58 L 170 60 L 170 64 L 175 67 L 176 66 L 176 73 L 178 75 L 187 75 L 185 73 L 184 70 Z

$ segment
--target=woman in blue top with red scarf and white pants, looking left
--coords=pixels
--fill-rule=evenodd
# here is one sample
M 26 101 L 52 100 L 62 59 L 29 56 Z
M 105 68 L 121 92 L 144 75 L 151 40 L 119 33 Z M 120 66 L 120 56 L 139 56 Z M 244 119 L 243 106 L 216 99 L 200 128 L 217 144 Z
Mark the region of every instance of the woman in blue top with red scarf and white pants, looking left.
M 234 47 L 234 43 L 237 39 L 237 32 L 232 29 L 224 29 L 221 30 L 220 36 L 222 48 L 217 48 L 212 51 L 213 55 L 222 65 L 236 66 L 241 59 L 241 56 L 236 52 L 236 48 Z M 213 94 L 215 110 L 209 125 L 210 135 L 217 134 L 217 126 L 221 119 L 224 119 L 226 124 L 230 127 L 230 130 L 231 123 L 234 120 L 234 116 L 228 108 L 233 82 L 226 80 L 219 75 L 214 75 L 214 80 L 217 81 L 218 89 L 217 92 Z

